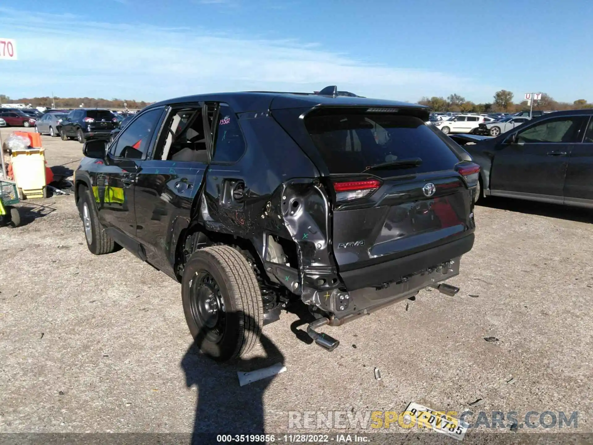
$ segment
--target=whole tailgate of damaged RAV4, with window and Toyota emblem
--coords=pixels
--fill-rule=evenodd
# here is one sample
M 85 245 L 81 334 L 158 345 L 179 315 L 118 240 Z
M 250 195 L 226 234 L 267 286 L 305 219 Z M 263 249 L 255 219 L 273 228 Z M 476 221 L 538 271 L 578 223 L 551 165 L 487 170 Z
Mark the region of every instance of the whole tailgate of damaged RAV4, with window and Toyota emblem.
M 330 172 L 340 272 L 439 246 L 474 227 L 468 184 L 455 171 L 460 159 L 438 129 L 402 113 L 322 109 L 305 117 Z

